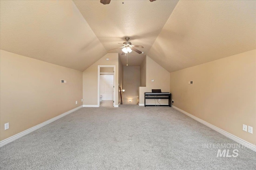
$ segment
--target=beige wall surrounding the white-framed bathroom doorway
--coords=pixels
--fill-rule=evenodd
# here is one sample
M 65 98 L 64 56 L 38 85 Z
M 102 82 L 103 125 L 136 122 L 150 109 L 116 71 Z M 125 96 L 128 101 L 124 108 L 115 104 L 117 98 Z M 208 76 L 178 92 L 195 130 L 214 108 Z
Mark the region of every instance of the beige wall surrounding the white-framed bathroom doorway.
M 109 58 L 109 60 L 106 60 L 106 58 Z M 116 66 L 115 105 L 118 105 L 118 53 L 107 53 L 83 71 L 83 105 L 98 105 L 98 65 Z

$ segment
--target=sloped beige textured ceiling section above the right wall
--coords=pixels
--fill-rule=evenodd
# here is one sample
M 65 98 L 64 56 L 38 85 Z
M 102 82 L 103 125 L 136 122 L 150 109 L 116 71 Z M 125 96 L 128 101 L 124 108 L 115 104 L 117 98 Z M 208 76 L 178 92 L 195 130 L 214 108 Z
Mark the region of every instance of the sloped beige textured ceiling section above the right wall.
M 256 49 L 256 1 L 179 1 L 148 56 L 169 72 Z

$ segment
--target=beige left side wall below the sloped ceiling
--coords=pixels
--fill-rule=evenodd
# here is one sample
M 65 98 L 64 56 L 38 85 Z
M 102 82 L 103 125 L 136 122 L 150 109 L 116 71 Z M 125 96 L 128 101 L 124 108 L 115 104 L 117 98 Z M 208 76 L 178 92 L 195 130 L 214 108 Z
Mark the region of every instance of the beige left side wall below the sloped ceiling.
M 82 105 L 82 71 L 0 50 L 0 73 L 0 140 Z

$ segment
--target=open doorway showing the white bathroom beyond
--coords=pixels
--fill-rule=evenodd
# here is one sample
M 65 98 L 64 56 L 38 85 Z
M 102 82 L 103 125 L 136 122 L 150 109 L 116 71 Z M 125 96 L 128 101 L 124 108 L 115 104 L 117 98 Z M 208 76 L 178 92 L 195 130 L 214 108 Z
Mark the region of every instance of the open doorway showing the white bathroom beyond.
M 100 66 L 99 75 L 99 107 L 114 106 L 114 67 Z

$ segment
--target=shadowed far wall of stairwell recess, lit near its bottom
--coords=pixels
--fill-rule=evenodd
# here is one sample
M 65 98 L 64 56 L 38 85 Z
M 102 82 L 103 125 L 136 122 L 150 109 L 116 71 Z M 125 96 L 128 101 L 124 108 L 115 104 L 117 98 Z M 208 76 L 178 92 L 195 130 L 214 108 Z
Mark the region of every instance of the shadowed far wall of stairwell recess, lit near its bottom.
M 124 105 L 137 105 L 140 87 L 140 66 L 124 66 Z M 131 99 L 131 102 L 129 101 Z

